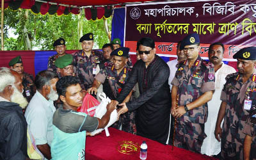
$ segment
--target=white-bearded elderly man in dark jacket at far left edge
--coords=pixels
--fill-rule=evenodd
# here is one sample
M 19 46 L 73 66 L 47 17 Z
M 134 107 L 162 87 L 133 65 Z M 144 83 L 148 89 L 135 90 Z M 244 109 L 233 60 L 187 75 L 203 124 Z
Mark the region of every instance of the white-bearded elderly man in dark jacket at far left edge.
M 27 154 L 27 123 L 22 108 L 21 76 L 9 68 L 0 68 L 0 159 L 24 160 Z

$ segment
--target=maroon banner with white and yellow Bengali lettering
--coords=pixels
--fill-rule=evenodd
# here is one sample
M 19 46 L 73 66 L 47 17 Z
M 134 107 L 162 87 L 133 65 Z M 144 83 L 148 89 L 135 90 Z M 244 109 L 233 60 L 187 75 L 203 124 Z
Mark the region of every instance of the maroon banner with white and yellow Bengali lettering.
M 145 36 L 156 42 L 156 53 L 177 57 L 177 42 L 190 33 L 200 36 L 200 56 L 208 57 L 209 45 L 225 45 L 224 61 L 243 47 L 256 46 L 255 1 L 169 1 L 126 6 L 125 47 L 136 52 Z

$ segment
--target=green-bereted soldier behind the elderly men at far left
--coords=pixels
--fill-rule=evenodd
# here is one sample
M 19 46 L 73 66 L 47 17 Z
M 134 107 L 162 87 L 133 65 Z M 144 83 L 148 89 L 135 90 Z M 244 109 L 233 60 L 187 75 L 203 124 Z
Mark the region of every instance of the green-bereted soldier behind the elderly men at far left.
M 9 62 L 9 66 L 13 70 L 17 71 L 22 77 L 22 84 L 24 86 L 24 92 L 22 94 L 24 97 L 26 97 L 26 99 L 29 102 L 36 92 L 33 76 L 31 74 L 24 72 L 24 67 L 20 56 L 13 58 Z

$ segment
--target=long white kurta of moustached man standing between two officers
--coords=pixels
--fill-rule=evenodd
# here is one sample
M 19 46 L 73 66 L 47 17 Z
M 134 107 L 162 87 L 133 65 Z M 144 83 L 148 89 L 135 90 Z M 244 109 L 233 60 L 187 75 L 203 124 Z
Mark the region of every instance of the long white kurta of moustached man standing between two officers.
M 201 148 L 201 153 L 206 154 L 207 156 L 217 155 L 221 150 L 221 143 L 216 140 L 214 136 L 215 125 L 218 117 L 218 112 L 220 109 L 220 95 L 221 90 L 223 89 L 224 84 L 226 83 L 226 76 L 236 72 L 233 67 L 225 65 L 222 62 L 221 68 L 215 73 L 215 92 L 212 95 L 212 99 L 207 102 L 208 104 L 208 118 L 205 122 L 205 134 L 207 138 L 204 139 L 204 143 Z M 222 125 L 222 122 L 221 122 Z

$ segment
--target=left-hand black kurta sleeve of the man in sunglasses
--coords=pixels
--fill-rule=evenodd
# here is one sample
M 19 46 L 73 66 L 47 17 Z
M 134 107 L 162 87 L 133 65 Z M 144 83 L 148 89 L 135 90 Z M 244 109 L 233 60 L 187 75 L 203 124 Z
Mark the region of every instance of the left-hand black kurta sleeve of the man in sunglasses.
M 119 104 L 124 101 L 127 95 L 129 95 L 129 93 L 131 92 L 132 88 L 138 82 L 138 67 L 138 63 L 135 63 L 134 67 L 132 67 L 129 79 L 127 80 L 127 83 L 124 85 L 124 88 L 120 92 L 120 95 L 116 99 Z

